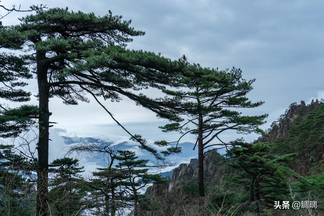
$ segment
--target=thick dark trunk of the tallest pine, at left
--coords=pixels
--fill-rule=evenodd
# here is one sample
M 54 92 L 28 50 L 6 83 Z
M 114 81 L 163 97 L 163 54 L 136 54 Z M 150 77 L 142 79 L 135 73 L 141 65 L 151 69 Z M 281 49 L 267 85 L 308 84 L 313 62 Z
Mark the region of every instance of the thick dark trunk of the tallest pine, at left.
M 45 54 L 36 55 L 39 96 L 39 138 L 37 144 L 37 201 L 36 215 L 47 215 L 48 211 L 48 160 L 49 160 L 49 83 L 47 68 L 43 64 Z

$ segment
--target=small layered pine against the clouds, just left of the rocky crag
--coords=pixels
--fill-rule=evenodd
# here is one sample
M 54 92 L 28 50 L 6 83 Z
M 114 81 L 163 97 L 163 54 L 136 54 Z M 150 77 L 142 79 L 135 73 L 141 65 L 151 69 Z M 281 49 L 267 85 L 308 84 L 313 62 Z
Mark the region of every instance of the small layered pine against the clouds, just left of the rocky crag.
M 134 203 L 134 216 L 138 216 L 138 202 L 140 198 L 139 191 L 151 183 L 166 183 L 166 179 L 161 178 L 158 174 L 150 174 L 146 168 L 147 159 L 137 159 L 135 152 L 118 150 L 117 159 L 120 161 L 117 168 L 125 175 L 122 185 L 130 192 L 129 199 Z

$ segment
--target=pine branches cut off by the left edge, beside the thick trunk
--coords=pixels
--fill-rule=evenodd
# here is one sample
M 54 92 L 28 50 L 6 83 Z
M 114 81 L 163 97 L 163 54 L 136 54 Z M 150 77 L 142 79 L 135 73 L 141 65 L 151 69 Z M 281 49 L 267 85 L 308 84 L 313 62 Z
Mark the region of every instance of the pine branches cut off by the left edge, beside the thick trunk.
M 0 24 L 0 29 L 4 30 Z M 8 43 L 0 37 L 2 46 Z M 12 46 L 19 46 L 19 41 L 10 41 Z M 26 102 L 30 100 L 30 93 L 22 88 L 27 85 L 22 79 L 31 78 L 27 63 L 14 54 L 0 53 L 0 98 L 12 102 Z M 9 108 L 0 104 L 0 138 L 16 137 L 33 123 L 31 117 L 36 117 L 34 106 L 23 105 Z

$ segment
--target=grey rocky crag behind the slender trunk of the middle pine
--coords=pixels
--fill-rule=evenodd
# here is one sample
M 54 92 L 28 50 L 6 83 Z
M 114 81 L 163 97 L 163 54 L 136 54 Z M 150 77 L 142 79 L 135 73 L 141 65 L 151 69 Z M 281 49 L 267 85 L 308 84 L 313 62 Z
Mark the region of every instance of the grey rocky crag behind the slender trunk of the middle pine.
M 224 156 L 217 151 L 207 153 L 204 163 L 206 186 L 214 187 L 220 180 L 233 174 Z M 140 206 L 141 215 L 201 215 L 199 213 L 204 211 L 204 206 L 199 204 L 197 195 L 197 168 L 198 159 L 193 158 L 188 164 L 182 163 L 174 169 L 169 185 L 153 184 L 149 187 L 146 195 L 154 207 Z

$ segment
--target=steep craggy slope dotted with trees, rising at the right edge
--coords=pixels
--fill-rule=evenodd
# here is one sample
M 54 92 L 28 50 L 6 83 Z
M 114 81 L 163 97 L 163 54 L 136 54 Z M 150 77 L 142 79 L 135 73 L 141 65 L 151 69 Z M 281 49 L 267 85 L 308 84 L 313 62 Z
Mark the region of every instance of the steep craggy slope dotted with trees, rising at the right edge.
M 276 143 L 277 154 L 295 154 L 291 169 L 302 176 L 316 175 L 324 169 L 324 137 L 320 131 L 323 116 L 324 104 L 317 99 L 308 105 L 304 101 L 291 104 L 267 135 L 256 142 Z

